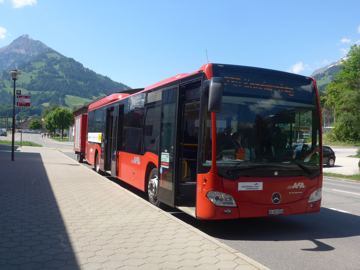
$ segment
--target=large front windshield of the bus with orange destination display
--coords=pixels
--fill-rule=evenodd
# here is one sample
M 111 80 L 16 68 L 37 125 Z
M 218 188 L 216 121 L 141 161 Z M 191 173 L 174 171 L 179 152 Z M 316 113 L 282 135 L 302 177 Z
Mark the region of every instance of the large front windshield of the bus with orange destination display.
M 225 81 L 222 111 L 216 113 L 218 174 L 229 179 L 319 175 L 314 82 L 284 72 L 279 74 L 288 78 L 254 73 L 229 69 L 218 73 Z M 211 166 L 211 160 L 204 166 Z

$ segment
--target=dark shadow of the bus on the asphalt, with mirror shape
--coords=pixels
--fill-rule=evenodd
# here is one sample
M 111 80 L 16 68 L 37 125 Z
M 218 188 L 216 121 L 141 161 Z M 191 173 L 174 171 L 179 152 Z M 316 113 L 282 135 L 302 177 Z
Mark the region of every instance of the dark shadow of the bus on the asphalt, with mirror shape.
M 359 216 L 324 207 L 319 213 L 236 220 L 200 221 L 184 215 L 177 217 L 212 237 L 224 240 L 314 242 L 317 247 L 303 249 L 307 251 L 334 249 L 321 242 L 321 239 L 360 235 Z

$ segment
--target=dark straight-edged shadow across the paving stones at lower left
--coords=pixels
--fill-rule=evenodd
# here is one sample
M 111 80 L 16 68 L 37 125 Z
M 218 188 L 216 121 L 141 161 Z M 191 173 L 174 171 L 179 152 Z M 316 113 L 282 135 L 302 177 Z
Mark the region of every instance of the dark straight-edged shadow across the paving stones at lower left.
M 11 161 L 11 145 L 0 145 L 0 155 L 6 168 L 0 177 L 0 269 L 78 269 L 40 153 L 16 152 Z

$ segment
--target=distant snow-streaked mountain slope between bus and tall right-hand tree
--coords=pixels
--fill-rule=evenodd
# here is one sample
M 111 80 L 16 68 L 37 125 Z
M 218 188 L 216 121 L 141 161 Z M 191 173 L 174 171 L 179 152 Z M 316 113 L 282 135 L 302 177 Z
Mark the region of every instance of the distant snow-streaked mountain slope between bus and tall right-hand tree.
M 319 91 L 324 91 L 325 86 L 327 86 L 335 79 L 335 74 L 341 70 L 339 68 L 341 60 L 346 59 L 347 57 L 340 58 L 339 60 L 336 60 L 335 62 L 327 65 L 326 67 L 316 69 L 314 72 L 311 73 L 310 77 L 315 79 Z

